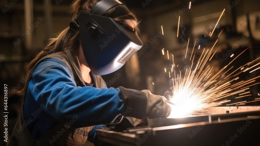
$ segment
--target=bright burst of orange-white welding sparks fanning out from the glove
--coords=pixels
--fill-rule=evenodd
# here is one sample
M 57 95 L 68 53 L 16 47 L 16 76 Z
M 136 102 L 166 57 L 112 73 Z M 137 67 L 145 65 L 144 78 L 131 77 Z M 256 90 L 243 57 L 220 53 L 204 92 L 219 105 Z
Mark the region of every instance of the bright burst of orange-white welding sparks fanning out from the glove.
M 218 40 L 216 40 L 213 47 L 216 45 L 217 41 Z M 194 115 L 194 113 L 199 115 L 201 114 L 201 111 L 207 107 L 215 107 L 219 105 L 242 105 L 258 101 L 254 100 L 247 102 L 246 100 L 243 100 L 232 103 L 231 100 L 226 100 L 225 98 L 235 95 L 237 96 L 235 99 L 245 99 L 245 97 L 252 96 L 248 89 L 250 89 L 249 87 L 251 86 L 260 84 L 259 82 L 256 83 L 256 79 L 260 78 L 260 76 L 242 81 L 238 79 L 242 72 L 259 64 L 260 57 L 250 63 L 240 66 L 239 68 L 235 68 L 235 66 L 231 64 L 248 49 L 246 48 L 242 53 L 233 58 L 228 65 L 224 66 L 216 74 L 212 74 L 214 66 L 207 64 L 209 64 L 209 61 L 217 52 L 216 50 L 213 54 L 213 47 L 209 49 L 204 48 L 198 59 L 194 59 L 195 54 L 192 52 L 193 57 L 191 58 L 193 59 L 190 62 L 191 66 L 187 68 L 184 73 L 179 69 L 178 71 L 176 71 L 175 68 L 171 69 L 171 72 L 174 72 L 174 75 L 172 76 L 173 96 L 170 97 L 170 101 L 176 104 L 176 107 L 172 107 L 171 117 L 190 116 Z M 186 55 L 187 50 L 185 56 Z M 196 62 L 194 62 L 194 60 L 196 60 Z M 172 66 L 173 65 L 174 62 Z M 228 73 L 230 71 L 231 73 Z M 169 77 L 171 77 L 170 72 Z M 259 93 L 258 95 L 260 96 Z

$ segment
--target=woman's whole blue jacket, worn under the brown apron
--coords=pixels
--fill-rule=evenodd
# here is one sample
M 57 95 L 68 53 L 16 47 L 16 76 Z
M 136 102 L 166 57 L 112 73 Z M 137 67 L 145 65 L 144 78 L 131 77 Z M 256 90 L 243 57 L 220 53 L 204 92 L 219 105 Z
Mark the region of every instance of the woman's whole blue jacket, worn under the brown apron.
M 27 127 L 36 139 L 59 122 L 67 123 L 76 116 L 74 128 L 99 125 L 89 136 L 93 142 L 95 129 L 124 112 L 120 94 L 118 88 L 77 87 L 71 71 L 62 61 L 44 59 L 29 81 L 23 107 L 24 119 L 32 118 Z

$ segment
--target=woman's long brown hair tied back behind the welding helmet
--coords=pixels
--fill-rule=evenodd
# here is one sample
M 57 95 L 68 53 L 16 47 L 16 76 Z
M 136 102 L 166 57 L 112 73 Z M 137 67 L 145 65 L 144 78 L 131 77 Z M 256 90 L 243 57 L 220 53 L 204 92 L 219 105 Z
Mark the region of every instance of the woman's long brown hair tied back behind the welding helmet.
M 75 0 L 73 1 L 72 5 L 70 6 L 70 15 L 71 21 L 74 22 L 80 13 L 89 13 L 90 10 L 100 2 L 101 0 Z M 110 15 L 113 13 L 117 6 L 107 10 L 104 15 Z M 138 31 L 138 24 L 139 21 L 136 18 L 136 16 L 133 13 L 129 13 L 123 16 L 119 16 L 114 18 L 114 20 L 122 23 L 123 25 L 128 25 L 130 22 L 134 24 L 135 29 Z M 77 54 L 79 50 L 79 43 L 80 43 L 80 37 L 79 37 L 79 31 L 75 32 L 75 34 L 71 35 L 70 27 L 67 27 L 62 32 L 60 32 L 56 38 L 52 38 L 49 40 L 49 43 L 46 47 L 43 48 L 40 52 L 36 54 L 36 57 L 31 60 L 25 67 L 25 75 L 26 75 L 26 81 L 25 85 L 29 82 L 29 74 L 32 72 L 33 66 L 44 56 L 47 56 L 48 54 L 65 51 L 68 46 L 73 47 Z M 21 91 L 18 91 L 17 93 L 19 95 L 24 95 L 27 87 L 23 87 Z

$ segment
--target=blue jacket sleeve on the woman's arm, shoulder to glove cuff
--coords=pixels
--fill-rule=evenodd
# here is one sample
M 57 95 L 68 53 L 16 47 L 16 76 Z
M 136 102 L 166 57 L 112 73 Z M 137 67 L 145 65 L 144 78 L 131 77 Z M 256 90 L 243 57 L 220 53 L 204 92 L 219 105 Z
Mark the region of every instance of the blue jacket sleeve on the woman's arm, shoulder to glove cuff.
M 57 59 L 40 62 L 29 86 L 36 102 L 56 120 L 67 123 L 77 116 L 75 128 L 108 124 L 124 112 L 119 89 L 76 87 L 72 72 Z

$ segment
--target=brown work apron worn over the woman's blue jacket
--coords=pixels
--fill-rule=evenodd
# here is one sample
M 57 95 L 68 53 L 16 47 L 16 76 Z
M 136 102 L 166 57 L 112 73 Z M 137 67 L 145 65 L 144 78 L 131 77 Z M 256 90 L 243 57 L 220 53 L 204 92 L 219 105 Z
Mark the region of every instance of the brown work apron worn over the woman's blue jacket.
M 80 64 L 77 59 L 77 56 L 75 52 L 69 48 L 66 51 L 56 52 L 41 58 L 31 69 L 29 78 L 27 79 L 28 82 L 37 64 L 40 63 L 43 59 L 47 58 L 59 59 L 62 62 L 64 62 L 68 66 L 70 71 L 73 73 L 76 85 L 81 87 L 86 86 L 81 75 Z M 93 78 L 97 88 L 103 88 L 106 86 L 101 76 L 94 75 Z M 28 87 L 28 82 L 26 82 L 25 87 Z M 87 138 L 91 130 L 93 129 L 93 126 L 74 129 L 73 127 L 70 127 L 67 123 L 58 123 L 52 130 L 50 130 L 44 136 L 38 139 L 34 139 L 33 136 L 31 136 L 31 133 L 28 130 L 27 124 L 25 123 L 23 117 L 24 100 L 25 95 L 23 97 L 23 103 L 19 117 L 17 119 L 14 131 L 12 132 L 10 138 L 9 146 L 80 146 L 87 141 Z

